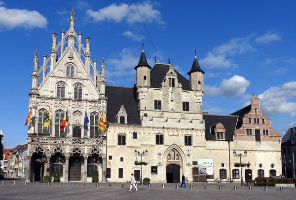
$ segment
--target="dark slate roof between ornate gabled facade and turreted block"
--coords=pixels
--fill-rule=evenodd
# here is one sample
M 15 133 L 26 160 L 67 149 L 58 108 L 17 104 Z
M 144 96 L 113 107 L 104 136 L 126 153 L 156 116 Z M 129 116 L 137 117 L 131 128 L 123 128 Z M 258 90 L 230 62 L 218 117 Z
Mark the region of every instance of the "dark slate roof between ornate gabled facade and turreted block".
M 124 105 L 127 113 L 127 123 L 141 124 L 137 100 L 133 87 L 106 85 L 107 100 L 107 120 L 110 123 L 117 123 L 115 117 Z

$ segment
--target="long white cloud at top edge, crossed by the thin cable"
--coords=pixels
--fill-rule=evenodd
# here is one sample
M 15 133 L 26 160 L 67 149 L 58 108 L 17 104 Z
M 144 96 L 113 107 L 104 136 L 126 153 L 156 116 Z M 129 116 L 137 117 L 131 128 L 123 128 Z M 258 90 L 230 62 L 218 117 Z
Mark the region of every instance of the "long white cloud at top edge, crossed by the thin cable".
M 161 14 L 158 10 L 153 9 L 153 4 L 149 1 L 137 4 L 144 22 L 157 22 L 163 24 Z M 113 20 L 115 22 L 127 21 L 128 23 L 142 22 L 135 4 L 115 3 L 101 8 L 98 11 L 88 9 L 86 14 L 93 18 L 94 21 Z

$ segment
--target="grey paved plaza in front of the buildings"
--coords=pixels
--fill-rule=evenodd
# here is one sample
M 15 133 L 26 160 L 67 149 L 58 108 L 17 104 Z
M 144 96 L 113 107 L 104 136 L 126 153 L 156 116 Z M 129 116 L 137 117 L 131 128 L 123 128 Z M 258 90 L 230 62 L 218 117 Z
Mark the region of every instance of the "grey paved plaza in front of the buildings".
M 13 185 L 15 181 L 15 185 Z M 176 184 L 151 184 L 151 188 L 145 185 L 138 185 L 139 191 L 129 191 L 129 183 L 99 183 L 96 184 L 86 183 L 86 187 L 81 182 L 74 183 L 47 183 L 36 182 L 24 184 L 24 179 L 0 180 L 0 200 L 136 200 L 136 199 L 164 199 L 164 200 L 177 200 L 177 199 L 199 199 L 199 200 L 289 200 L 295 199 L 296 188 L 283 188 L 280 191 L 278 187 L 268 187 L 264 191 L 264 187 L 240 187 L 240 183 L 193 183 L 187 184 L 186 188 L 176 189 Z M 190 190 L 192 185 L 192 190 Z M 205 190 L 205 185 L 208 189 Z M 222 190 L 219 190 L 219 186 Z M 237 190 L 233 190 L 233 186 L 237 186 Z

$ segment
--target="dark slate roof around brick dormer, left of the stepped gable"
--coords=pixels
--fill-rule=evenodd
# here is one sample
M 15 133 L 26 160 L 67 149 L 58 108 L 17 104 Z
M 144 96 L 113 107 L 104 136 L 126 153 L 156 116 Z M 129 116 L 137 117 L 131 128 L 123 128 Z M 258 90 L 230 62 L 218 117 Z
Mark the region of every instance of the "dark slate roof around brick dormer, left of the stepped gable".
M 235 126 L 238 116 L 230 115 L 213 115 L 203 114 L 205 120 L 206 140 L 215 140 L 211 134 L 212 128 L 215 128 L 217 123 L 222 123 L 225 128 L 225 140 L 233 140 L 232 135 L 235 132 Z

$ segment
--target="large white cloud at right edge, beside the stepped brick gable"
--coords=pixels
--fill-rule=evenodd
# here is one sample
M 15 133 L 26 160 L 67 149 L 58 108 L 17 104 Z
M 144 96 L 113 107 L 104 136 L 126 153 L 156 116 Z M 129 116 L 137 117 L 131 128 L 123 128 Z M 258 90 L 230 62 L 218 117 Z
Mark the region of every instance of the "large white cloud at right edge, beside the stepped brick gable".
M 296 81 L 291 81 L 282 86 L 270 87 L 259 94 L 260 107 L 265 115 L 286 113 L 296 116 Z

